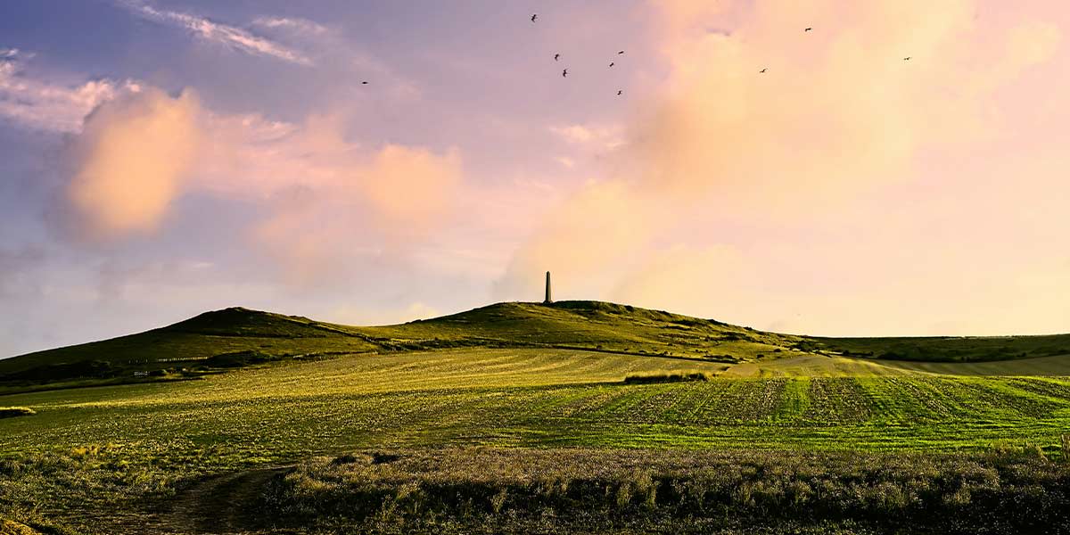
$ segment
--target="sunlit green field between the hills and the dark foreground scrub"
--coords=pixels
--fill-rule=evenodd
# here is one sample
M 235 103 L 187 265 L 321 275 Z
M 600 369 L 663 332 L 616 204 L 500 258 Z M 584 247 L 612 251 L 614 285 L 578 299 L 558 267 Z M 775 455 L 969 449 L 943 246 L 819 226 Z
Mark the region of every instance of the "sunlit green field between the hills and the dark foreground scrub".
M 1070 430 L 1070 378 L 1064 377 L 926 371 L 623 382 L 626 374 L 676 364 L 576 350 L 459 349 L 2 396 L 4 406 L 36 412 L 0 421 L 5 457 L 46 462 L 58 456 L 78 470 L 60 480 L 10 474 L 0 503 L 9 515 L 34 510 L 76 533 L 94 532 L 100 519 L 78 520 L 85 504 L 129 507 L 166 500 L 203 475 L 353 449 L 987 452 L 1035 445 L 1057 459 L 1060 437 Z M 688 364 L 715 373 L 729 366 Z M 946 366 L 966 373 L 975 365 Z M 96 479 L 104 476 L 120 483 Z

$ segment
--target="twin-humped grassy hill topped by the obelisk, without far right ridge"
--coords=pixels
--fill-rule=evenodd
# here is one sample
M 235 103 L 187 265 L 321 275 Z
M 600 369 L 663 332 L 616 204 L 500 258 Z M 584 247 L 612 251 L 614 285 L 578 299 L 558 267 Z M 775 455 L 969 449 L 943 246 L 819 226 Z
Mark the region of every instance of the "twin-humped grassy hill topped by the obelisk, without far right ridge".
M 743 362 L 801 338 L 599 302 L 499 303 L 400 325 L 356 327 L 227 308 L 144 333 L 0 360 L 0 381 L 193 373 L 227 355 L 264 362 L 447 348 L 576 348 Z M 220 356 L 221 355 L 221 356 Z M 248 355 L 253 355 L 249 357 Z

